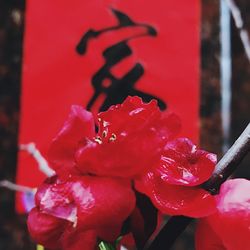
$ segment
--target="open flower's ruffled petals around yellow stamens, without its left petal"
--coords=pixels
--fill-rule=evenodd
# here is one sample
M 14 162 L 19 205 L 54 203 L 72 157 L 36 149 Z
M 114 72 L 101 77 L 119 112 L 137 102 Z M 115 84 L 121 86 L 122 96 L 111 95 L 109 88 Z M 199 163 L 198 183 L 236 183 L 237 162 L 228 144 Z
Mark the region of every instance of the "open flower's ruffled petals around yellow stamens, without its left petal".
M 77 151 L 77 167 L 82 173 L 133 178 L 159 164 L 163 145 L 179 130 L 179 118 L 161 113 L 155 101 L 128 97 L 99 114 L 98 135 Z

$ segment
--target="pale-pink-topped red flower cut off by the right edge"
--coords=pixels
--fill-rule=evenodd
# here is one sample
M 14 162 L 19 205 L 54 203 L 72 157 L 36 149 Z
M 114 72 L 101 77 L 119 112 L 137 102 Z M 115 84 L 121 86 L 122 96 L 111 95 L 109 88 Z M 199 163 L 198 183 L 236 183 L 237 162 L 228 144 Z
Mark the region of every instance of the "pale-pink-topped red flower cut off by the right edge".
M 206 223 L 218 235 L 227 250 L 248 250 L 250 237 L 250 181 L 228 180 L 216 196 L 218 212 Z

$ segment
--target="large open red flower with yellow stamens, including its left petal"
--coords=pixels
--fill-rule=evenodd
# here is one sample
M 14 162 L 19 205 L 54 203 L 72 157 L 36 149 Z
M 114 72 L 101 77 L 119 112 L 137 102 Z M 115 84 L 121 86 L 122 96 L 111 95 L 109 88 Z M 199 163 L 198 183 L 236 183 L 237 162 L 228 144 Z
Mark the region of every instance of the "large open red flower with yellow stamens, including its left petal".
M 98 115 L 95 134 L 91 113 L 73 106 L 54 139 L 49 160 L 59 173 L 134 177 L 159 163 L 161 148 L 180 130 L 179 118 L 163 114 L 156 101 L 128 97 Z

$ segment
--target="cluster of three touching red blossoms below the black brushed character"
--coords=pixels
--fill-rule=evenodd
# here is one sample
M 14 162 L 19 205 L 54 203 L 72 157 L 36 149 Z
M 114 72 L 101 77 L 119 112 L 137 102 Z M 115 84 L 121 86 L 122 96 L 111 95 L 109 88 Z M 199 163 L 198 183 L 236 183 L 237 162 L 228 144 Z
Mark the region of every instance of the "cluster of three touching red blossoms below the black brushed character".
M 29 214 L 32 238 L 49 249 L 71 250 L 114 241 L 136 207 L 135 192 L 164 214 L 214 213 L 215 199 L 200 184 L 216 157 L 177 138 L 179 131 L 179 118 L 162 113 L 156 101 L 128 97 L 96 119 L 73 106 L 48 153 L 56 176 L 38 188 Z

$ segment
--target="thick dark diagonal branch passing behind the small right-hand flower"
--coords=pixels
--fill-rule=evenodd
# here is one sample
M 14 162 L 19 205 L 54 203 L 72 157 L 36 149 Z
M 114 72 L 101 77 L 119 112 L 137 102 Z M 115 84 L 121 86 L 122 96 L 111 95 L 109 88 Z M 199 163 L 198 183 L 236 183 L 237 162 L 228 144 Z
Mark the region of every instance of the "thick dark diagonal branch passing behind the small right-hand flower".
M 215 167 L 212 177 L 203 185 L 206 190 L 215 194 L 220 185 L 236 170 L 242 159 L 250 152 L 250 123 L 236 140 L 233 146 L 222 157 Z M 186 229 L 192 218 L 173 216 L 162 228 L 147 250 L 168 250 L 172 247 L 178 236 Z

